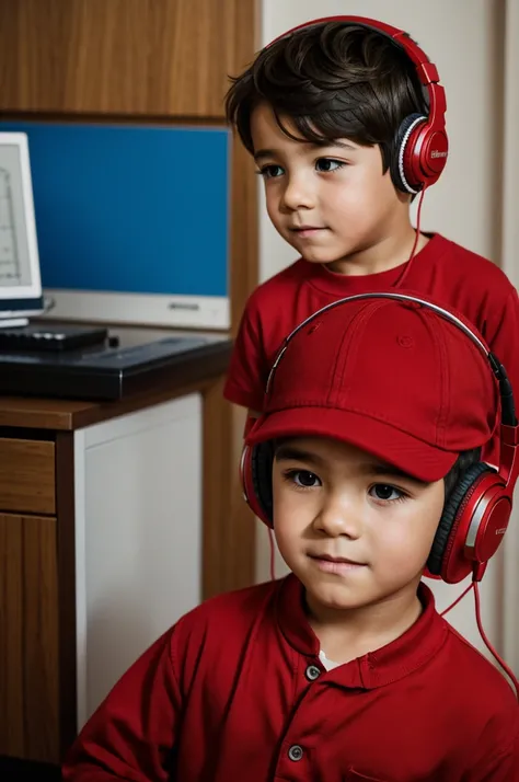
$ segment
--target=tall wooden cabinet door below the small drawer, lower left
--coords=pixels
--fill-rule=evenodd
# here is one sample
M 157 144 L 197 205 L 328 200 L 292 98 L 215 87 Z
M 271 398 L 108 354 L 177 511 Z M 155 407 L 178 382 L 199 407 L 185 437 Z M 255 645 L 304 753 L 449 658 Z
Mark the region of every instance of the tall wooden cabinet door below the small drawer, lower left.
M 0 755 L 59 760 L 56 518 L 0 514 Z

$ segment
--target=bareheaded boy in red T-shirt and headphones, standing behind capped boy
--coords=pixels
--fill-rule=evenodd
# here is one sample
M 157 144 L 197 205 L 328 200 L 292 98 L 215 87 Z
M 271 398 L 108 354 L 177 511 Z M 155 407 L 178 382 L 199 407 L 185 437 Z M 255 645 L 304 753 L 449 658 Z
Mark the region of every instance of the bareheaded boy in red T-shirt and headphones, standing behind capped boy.
M 300 258 L 249 299 L 224 390 L 231 402 L 262 411 L 281 340 L 312 312 L 404 280 L 461 311 L 519 388 L 515 288 L 488 261 L 411 223 L 412 198 L 446 162 L 437 82 L 408 36 L 355 18 L 287 33 L 234 79 L 228 118 L 255 158 L 274 227 Z

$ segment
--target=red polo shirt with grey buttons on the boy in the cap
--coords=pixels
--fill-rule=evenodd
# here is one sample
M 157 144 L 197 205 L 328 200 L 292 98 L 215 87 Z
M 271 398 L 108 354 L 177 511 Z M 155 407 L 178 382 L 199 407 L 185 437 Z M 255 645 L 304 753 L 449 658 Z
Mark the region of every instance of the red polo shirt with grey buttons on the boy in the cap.
M 436 612 L 326 672 L 290 575 L 183 617 L 84 727 L 67 782 L 516 782 L 519 706 Z

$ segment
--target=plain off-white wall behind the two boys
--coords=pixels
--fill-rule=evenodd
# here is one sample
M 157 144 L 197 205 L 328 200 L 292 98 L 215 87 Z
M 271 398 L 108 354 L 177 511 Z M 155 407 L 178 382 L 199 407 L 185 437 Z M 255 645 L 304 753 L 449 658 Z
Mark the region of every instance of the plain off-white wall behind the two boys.
M 517 0 L 511 4 L 517 7 Z M 263 0 L 262 27 L 262 44 L 266 44 L 311 19 L 357 14 L 380 19 L 411 33 L 438 67 L 447 91 L 450 139 L 447 169 L 424 199 L 423 229 L 445 233 L 494 260 L 498 260 L 499 252 L 503 148 L 499 100 L 503 42 L 498 37 L 498 5 L 493 0 L 436 0 L 435 3 L 429 0 L 393 0 L 391 3 L 387 0 Z M 514 88 L 517 91 L 517 79 L 510 84 L 510 90 Z M 514 182 L 517 181 L 516 174 Z M 295 253 L 269 225 L 263 196 L 260 202 L 260 271 L 261 278 L 266 279 L 291 263 Z M 514 230 L 517 246 L 519 237 L 517 228 Z M 282 570 L 279 561 L 277 570 L 278 573 Z M 482 587 L 484 624 L 498 645 L 501 645 L 500 570 L 498 562 L 493 563 Z M 257 575 L 262 580 L 268 577 L 268 540 L 261 527 Z M 435 584 L 441 607 L 459 591 L 459 587 Z M 471 597 L 452 611 L 451 621 L 482 648 Z

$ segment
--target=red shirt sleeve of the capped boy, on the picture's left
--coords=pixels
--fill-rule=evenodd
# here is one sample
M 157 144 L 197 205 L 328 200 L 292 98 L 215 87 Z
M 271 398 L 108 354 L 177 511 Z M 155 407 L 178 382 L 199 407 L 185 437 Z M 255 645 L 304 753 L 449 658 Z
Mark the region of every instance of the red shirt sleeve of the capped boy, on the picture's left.
M 170 655 L 172 631 L 117 682 L 62 767 L 65 782 L 166 782 L 182 699 Z

